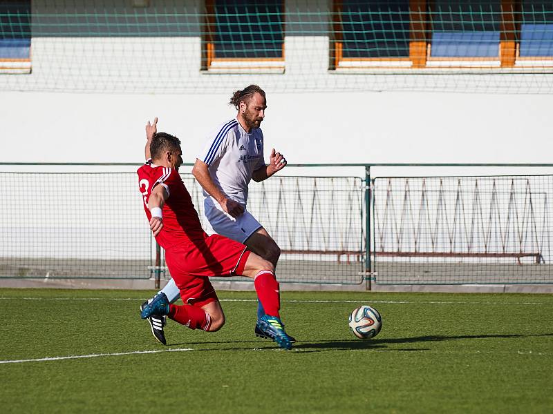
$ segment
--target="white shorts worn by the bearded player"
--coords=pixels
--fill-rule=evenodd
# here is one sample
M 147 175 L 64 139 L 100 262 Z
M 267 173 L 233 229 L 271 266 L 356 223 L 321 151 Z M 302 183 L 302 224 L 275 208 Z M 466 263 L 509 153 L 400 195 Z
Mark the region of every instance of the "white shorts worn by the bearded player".
M 248 237 L 263 227 L 247 210 L 238 217 L 232 217 L 225 213 L 221 205 L 213 201 L 211 197 L 205 197 L 203 207 L 205 217 L 211 227 L 209 229 L 211 232 L 206 229 L 207 233 L 217 233 L 236 242 L 244 243 Z

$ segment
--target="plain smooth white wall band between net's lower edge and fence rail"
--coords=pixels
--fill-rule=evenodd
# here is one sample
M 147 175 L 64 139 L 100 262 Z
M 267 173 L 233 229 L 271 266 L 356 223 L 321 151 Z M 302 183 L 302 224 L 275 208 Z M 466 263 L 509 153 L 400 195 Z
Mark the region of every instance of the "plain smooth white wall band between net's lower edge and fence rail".
M 140 162 L 157 116 L 194 162 L 207 132 L 234 116 L 231 92 L 0 92 L 0 160 Z M 550 163 L 552 106 L 550 95 L 269 90 L 263 132 L 290 164 Z

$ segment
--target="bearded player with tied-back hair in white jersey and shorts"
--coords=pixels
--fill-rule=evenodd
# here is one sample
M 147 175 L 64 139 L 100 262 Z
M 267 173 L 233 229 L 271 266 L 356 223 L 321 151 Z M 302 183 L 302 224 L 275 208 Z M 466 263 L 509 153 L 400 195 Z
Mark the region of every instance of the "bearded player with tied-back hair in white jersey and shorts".
M 236 118 L 218 126 L 208 136 L 192 174 L 203 188 L 204 213 L 212 230 L 245 244 L 276 267 L 281 250 L 267 230 L 247 211 L 247 190 L 251 179 L 257 182 L 268 179 L 286 166 L 286 159 L 273 148 L 270 163 L 266 165 L 263 160 L 263 132 L 259 126 L 265 117 L 267 101 L 259 86 L 250 85 L 237 90 L 229 103 L 238 110 Z M 156 131 L 156 121 L 153 126 L 147 125 L 147 137 Z M 161 292 L 167 295 L 169 302 L 179 297 L 172 279 Z M 265 315 L 261 302 L 257 313 L 258 319 Z M 150 320 L 150 324 L 153 335 L 165 343 L 165 320 Z M 255 333 L 266 337 L 257 324 Z M 293 337 L 290 339 L 295 342 Z

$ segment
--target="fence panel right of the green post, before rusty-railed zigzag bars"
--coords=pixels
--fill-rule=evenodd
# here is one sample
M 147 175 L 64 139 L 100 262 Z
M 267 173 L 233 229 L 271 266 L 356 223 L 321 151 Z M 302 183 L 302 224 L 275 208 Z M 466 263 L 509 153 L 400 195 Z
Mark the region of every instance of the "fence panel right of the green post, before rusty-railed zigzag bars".
M 380 284 L 551 283 L 553 176 L 373 180 Z

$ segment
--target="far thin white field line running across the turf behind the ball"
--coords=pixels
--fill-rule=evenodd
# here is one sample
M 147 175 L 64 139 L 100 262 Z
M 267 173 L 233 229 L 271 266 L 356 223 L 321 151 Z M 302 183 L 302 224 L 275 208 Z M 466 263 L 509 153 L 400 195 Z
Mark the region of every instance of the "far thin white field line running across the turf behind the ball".
M 107 300 L 107 301 L 136 301 L 144 302 L 147 298 L 133 297 L 0 297 L 0 300 Z M 149 298 L 148 298 L 149 299 Z M 220 299 L 221 302 L 257 302 L 257 299 Z M 284 303 L 298 304 L 431 304 L 431 305 L 537 305 L 537 306 L 553 306 L 553 303 L 543 302 L 467 302 L 467 301 L 410 301 L 410 300 L 303 300 L 289 299 L 281 300 Z

